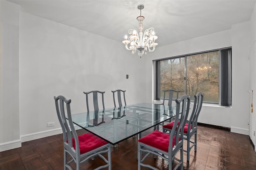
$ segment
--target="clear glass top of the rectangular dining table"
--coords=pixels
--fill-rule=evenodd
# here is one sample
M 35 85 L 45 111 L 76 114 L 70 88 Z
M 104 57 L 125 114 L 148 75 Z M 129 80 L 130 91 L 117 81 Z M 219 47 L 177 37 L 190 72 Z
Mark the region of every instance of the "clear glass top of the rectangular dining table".
M 174 117 L 175 113 L 176 106 L 139 103 L 74 114 L 72 121 L 115 145 Z

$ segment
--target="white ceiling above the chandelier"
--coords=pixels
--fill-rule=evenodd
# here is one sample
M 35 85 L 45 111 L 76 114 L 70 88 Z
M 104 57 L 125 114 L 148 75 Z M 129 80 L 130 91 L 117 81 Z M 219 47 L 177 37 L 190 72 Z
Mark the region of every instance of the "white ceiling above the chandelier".
M 8 0 L 23 12 L 122 42 L 138 30 L 138 4 L 144 4 L 144 30 L 153 27 L 158 46 L 228 30 L 246 22 L 256 0 Z

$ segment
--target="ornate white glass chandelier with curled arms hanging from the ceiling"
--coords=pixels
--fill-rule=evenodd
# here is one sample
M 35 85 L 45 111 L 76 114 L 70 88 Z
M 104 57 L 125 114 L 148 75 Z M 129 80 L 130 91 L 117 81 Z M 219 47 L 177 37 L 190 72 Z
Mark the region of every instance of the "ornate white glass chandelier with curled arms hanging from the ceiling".
M 144 8 L 143 4 L 138 5 L 138 9 L 140 10 L 140 16 L 137 17 L 137 20 L 139 22 L 139 31 L 130 29 L 128 30 L 128 33 L 130 34 L 129 38 L 127 39 L 127 35 L 124 37 L 124 45 L 127 50 L 132 50 L 132 54 L 136 53 L 138 51 L 138 55 L 141 57 L 144 53 L 146 54 L 146 51 L 152 52 L 155 50 L 156 45 L 158 43 L 155 43 L 155 40 L 158 38 L 154 33 L 154 28 L 148 28 L 143 33 L 143 20 L 144 16 L 141 16 L 141 10 Z M 128 47 L 128 44 L 130 45 Z

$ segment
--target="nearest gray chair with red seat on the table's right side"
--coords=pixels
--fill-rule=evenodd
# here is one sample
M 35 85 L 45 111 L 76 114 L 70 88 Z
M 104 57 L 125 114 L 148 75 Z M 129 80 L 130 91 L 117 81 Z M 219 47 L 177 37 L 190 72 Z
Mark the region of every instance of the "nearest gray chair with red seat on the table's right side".
M 187 95 L 183 95 L 181 99 L 176 99 L 176 116 L 174 126 L 178 127 L 171 130 L 170 134 L 154 130 L 154 132 L 151 132 L 138 140 L 138 170 L 141 169 L 141 166 L 154 170 L 157 169 L 150 164 L 146 164 L 148 163 L 146 158 L 150 154 L 159 156 L 160 158 L 168 161 L 168 170 L 172 170 L 172 161 L 174 159 L 178 161 L 174 169 L 176 170 L 180 167 L 180 169 L 183 170 L 183 130 L 189 113 L 190 99 L 191 97 Z M 182 108 L 181 113 L 180 107 Z M 178 115 L 180 115 L 180 118 Z M 178 121 L 180 122 L 179 125 Z M 181 132 L 182 135 L 179 136 L 179 132 Z M 176 156 L 176 154 L 179 152 L 180 157 L 177 158 L 178 156 Z

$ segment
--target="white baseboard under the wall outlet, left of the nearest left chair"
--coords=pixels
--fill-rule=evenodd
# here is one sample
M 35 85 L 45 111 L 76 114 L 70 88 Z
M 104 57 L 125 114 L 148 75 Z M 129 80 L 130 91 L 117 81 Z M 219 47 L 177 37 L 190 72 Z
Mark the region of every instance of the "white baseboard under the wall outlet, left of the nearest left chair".
M 25 135 L 20 136 L 20 138 L 21 138 L 21 142 L 27 142 L 30 140 L 45 138 L 48 136 L 53 136 L 53 135 L 61 134 L 61 133 L 62 133 L 61 128 L 55 128 L 55 129 L 51 129 L 51 130 L 45 130 L 45 131 L 41 131 L 41 132 L 25 134 Z

